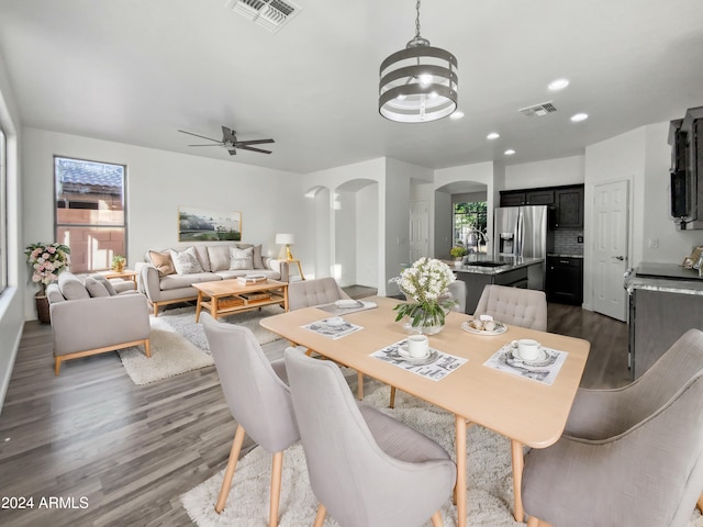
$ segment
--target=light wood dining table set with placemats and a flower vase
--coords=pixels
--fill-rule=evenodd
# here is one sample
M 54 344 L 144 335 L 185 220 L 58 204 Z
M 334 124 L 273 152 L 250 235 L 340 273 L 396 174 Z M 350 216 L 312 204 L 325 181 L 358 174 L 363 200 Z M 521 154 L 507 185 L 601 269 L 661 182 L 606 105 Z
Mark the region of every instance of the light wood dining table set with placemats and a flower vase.
M 395 386 L 454 414 L 457 458 L 455 500 L 459 527 L 465 527 L 467 522 L 468 425 L 479 424 L 510 438 L 515 495 L 513 515 L 516 520 L 523 522 L 523 448 L 545 448 L 561 436 L 585 368 L 590 344 L 580 338 L 510 325 L 507 332 L 501 335 L 476 335 L 461 328 L 462 322 L 472 318 L 470 315 L 451 312 L 446 317 L 443 330 L 429 336 L 429 346 L 468 361 L 444 379 L 434 381 L 370 356 L 408 335 L 403 325 L 394 322 L 393 307 L 399 303 L 398 300 L 384 296 L 364 300 L 376 302 L 378 307 L 344 315 L 345 321 L 359 325 L 362 329 L 337 339 L 303 327 L 331 316 L 317 307 L 263 318 L 260 324 L 294 345 L 304 346 L 357 370 L 359 374 Z M 520 338 L 533 338 L 545 347 L 568 354 L 553 384 L 483 366 L 502 346 Z

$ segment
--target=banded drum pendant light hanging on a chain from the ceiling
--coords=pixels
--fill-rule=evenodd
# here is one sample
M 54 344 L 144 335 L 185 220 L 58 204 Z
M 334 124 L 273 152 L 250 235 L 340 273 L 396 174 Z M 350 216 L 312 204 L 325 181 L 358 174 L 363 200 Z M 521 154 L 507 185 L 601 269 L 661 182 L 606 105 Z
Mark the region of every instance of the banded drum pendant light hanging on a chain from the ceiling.
M 458 65 L 451 53 L 420 36 L 420 0 L 415 37 L 381 64 L 378 111 L 399 123 L 426 123 L 457 109 Z

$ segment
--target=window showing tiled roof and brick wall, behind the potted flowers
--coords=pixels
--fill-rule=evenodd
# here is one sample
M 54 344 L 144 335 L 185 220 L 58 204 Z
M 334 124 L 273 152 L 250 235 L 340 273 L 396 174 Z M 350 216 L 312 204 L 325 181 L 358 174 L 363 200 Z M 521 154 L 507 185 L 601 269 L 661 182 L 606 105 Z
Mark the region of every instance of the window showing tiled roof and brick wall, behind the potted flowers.
M 54 157 L 56 240 L 70 247 L 72 272 L 126 256 L 125 181 L 124 165 Z

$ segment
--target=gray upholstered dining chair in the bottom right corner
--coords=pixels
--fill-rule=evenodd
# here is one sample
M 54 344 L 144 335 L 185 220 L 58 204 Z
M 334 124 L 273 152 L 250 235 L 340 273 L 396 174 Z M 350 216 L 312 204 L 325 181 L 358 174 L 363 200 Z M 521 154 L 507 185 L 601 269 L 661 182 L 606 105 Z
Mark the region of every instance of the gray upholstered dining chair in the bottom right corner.
M 703 506 L 702 401 L 698 329 L 632 384 L 580 389 L 565 435 L 525 458 L 527 525 L 685 526 Z

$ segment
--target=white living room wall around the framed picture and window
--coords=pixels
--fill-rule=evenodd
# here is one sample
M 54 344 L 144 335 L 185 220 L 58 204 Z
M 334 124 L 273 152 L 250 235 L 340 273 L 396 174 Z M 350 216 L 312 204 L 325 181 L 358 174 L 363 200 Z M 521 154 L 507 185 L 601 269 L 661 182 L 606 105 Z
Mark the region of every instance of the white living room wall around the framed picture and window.
M 180 205 L 239 211 L 243 242 L 263 244 L 264 254 L 275 256 L 276 233 L 291 233 L 295 257 L 312 259 L 313 242 L 300 214 L 310 203 L 298 175 L 30 127 L 23 132 L 24 245 L 55 238 L 53 156 L 60 155 L 127 166 L 130 266 L 148 249 L 185 245 L 178 243 Z M 26 298 L 34 291 L 27 287 Z M 27 319 L 36 317 L 31 302 L 24 311 Z

